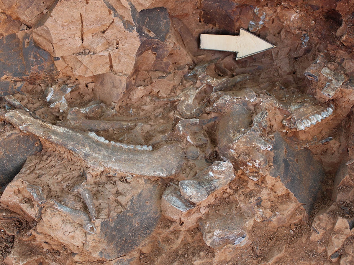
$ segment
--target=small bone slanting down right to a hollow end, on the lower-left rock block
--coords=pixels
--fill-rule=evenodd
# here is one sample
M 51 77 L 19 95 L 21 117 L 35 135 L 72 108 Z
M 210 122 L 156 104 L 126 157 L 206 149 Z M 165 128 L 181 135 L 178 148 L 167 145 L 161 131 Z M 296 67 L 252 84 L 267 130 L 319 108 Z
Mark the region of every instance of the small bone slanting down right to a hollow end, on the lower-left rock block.
M 54 203 L 53 207 L 55 209 L 61 211 L 62 213 L 65 213 L 67 216 L 73 219 L 75 223 L 81 224 L 86 232 L 90 234 L 97 233 L 96 227 L 93 223 L 91 223 L 90 217 L 87 215 L 87 213 L 65 206 L 55 200 L 52 201 Z

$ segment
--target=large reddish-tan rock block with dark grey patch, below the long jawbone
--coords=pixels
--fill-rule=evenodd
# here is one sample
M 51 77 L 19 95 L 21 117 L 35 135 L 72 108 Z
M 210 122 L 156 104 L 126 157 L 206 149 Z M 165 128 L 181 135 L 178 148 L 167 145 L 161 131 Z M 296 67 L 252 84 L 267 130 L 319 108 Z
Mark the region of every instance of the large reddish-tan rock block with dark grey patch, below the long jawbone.
M 157 184 L 143 179 L 131 179 L 131 182 L 124 183 L 115 174 L 109 176 L 109 181 L 105 178 L 107 182 L 102 182 L 104 184 L 93 184 L 95 177 L 87 178 L 94 198 L 93 207 L 97 210 L 97 218 L 92 220 L 97 231 L 86 233 L 78 215 L 81 212 L 87 216 L 85 201 L 74 189 L 74 184 L 83 177 L 80 167 L 75 166 L 80 160 L 65 153 L 48 157 L 48 151 L 46 147 L 41 154 L 30 157 L 0 200 L 5 207 L 26 216 L 29 222 L 38 222 L 30 231 L 36 240 L 40 242 L 41 238 L 47 237 L 53 241 L 53 246 L 66 246 L 77 261 L 90 257 L 112 260 L 133 250 L 154 230 L 161 214 L 161 194 Z M 42 162 L 36 165 L 36 160 Z M 62 163 L 58 163 L 60 160 Z M 47 172 L 37 178 L 36 168 L 41 168 L 40 171 L 46 169 Z M 66 168 L 72 171 L 65 172 Z M 32 187 L 40 187 L 37 189 L 40 194 L 37 195 L 43 199 L 39 208 L 35 207 L 34 193 L 30 190 Z M 56 194 L 55 197 L 64 205 L 58 202 L 53 204 L 49 200 L 51 194 Z M 23 200 L 26 202 L 21 203 Z M 61 210 L 62 207 L 73 209 L 72 215 Z

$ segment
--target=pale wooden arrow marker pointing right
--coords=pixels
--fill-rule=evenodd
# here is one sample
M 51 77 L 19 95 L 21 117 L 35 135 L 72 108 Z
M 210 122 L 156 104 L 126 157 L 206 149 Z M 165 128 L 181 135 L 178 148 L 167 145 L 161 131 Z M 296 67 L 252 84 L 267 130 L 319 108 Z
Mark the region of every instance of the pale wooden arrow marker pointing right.
M 236 60 L 276 47 L 272 43 L 240 29 L 239 36 L 200 34 L 200 48 L 216 51 L 237 52 Z

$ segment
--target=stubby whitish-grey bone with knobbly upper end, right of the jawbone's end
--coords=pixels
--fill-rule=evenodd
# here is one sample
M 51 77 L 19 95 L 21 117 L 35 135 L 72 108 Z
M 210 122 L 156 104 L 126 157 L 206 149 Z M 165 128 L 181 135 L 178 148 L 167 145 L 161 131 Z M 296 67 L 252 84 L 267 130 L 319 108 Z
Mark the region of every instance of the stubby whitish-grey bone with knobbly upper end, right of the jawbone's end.
M 184 198 L 197 203 L 234 179 L 234 168 L 229 162 L 215 161 L 193 179 L 182 180 L 179 188 Z

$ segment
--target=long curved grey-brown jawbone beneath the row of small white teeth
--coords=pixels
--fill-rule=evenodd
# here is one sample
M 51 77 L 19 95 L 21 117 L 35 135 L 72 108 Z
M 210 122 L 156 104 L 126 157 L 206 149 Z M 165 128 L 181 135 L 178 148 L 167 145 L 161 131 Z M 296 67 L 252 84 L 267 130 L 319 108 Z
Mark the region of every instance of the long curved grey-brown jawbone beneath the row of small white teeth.
M 108 167 L 127 174 L 167 177 L 176 174 L 184 162 L 184 152 L 178 144 L 165 145 L 156 151 L 127 150 L 108 141 L 95 141 L 84 133 L 41 122 L 25 111 L 0 112 L 0 117 L 22 131 L 73 151 L 100 169 Z

